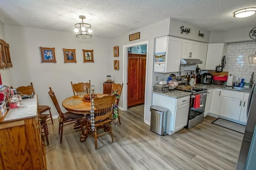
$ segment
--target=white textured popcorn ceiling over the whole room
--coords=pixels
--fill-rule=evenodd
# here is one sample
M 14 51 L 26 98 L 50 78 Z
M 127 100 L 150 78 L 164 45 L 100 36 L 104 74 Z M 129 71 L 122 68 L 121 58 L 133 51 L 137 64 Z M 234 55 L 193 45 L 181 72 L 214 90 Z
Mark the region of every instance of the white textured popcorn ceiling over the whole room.
M 1 0 L 0 21 L 56 31 L 73 31 L 86 16 L 94 35 L 122 33 L 175 18 L 209 31 L 256 26 L 256 14 L 234 18 L 233 12 L 256 7 L 256 0 Z

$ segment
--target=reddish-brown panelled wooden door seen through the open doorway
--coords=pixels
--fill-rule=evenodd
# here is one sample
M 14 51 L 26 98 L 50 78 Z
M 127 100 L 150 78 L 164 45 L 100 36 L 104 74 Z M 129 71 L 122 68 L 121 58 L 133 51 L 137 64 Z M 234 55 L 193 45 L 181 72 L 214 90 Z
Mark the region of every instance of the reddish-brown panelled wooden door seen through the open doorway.
M 128 54 L 127 106 L 144 103 L 146 55 Z

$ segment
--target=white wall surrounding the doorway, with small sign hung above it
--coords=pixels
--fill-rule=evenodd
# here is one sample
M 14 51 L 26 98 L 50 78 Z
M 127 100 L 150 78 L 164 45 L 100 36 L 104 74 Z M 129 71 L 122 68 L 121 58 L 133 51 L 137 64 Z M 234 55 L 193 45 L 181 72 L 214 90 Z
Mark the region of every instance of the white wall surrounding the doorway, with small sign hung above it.
M 154 38 L 156 37 L 161 37 L 164 35 L 169 34 L 169 25 L 170 25 L 170 18 L 159 21 L 157 23 L 153 23 L 151 25 L 148 25 L 146 27 L 142 27 L 140 29 L 135 29 L 133 31 L 130 31 L 128 33 L 125 33 L 123 35 L 119 35 L 118 37 L 115 37 L 113 39 L 113 44 L 112 46 L 119 46 L 119 56 L 120 57 L 112 57 L 113 59 L 118 59 L 120 62 L 120 70 L 117 70 L 114 72 L 114 80 L 115 82 L 123 82 L 123 66 L 122 63 L 124 62 L 124 57 L 123 56 L 123 46 L 124 45 L 129 45 L 132 43 L 138 43 L 142 41 L 149 41 L 148 44 L 148 72 L 147 72 L 147 77 L 146 77 L 146 101 L 145 101 L 145 107 L 146 107 L 146 116 L 145 116 L 145 121 L 147 123 L 150 122 L 150 106 L 152 104 L 152 77 L 153 77 L 153 61 L 154 61 Z M 133 33 L 140 32 L 140 39 L 134 40 L 134 41 L 129 41 L 129 35 Z M 126 84 L 124 84 L 126 86 Z M 122 96 L 121 100 L 122 102 Z

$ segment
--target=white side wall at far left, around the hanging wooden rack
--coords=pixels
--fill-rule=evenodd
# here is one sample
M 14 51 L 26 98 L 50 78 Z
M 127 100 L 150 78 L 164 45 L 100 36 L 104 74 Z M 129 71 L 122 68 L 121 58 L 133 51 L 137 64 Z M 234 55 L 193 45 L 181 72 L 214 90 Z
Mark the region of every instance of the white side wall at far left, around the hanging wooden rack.
M 6 41 L 4 38 L 4 25 L 0 22 L 0 39 L 3 39 Z M 6 41 L 8 43 L 8 41 Z M 11 53 L 12 57 L 12 53 Z M 2 84 L 6 86 L 12 86 L 12 76 L 11 76 L 11 70 L 12 68 L 0 68 L 0 74 L 1 74 L 1 79 L 2 79 Z

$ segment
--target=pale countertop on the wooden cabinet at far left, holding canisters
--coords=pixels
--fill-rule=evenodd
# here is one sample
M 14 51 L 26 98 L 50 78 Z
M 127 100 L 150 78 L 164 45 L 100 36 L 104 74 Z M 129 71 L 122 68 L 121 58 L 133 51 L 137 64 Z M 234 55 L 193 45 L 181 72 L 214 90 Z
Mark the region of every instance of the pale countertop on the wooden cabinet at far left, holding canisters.
M 17 109 L 10 109 L 4 120 L 1 123 L 5 123 L 5 121 L 14 121 L 16 119 L 24 119 L 27 117 L 36 117 L 37 115 L 37 96 L 34 95 L 32 99 L 25 99 L 20 102 L 20 107 Z

